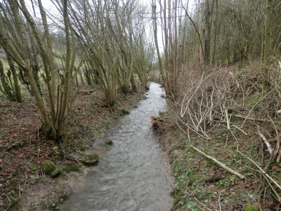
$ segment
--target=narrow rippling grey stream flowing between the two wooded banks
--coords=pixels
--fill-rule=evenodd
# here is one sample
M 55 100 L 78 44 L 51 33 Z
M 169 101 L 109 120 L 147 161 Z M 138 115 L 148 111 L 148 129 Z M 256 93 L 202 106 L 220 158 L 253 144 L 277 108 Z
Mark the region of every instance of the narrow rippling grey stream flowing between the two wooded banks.
M 150 116 L 166 110 L 164 90 L 152 83 L 138 108 L 117 120 L 106 138 L 113 146 L 97 167 L 75 184 L 60 210 L 171 210 L 173 178 L 152 132 Z M 103 146 L 93 146 L 103 151 Z

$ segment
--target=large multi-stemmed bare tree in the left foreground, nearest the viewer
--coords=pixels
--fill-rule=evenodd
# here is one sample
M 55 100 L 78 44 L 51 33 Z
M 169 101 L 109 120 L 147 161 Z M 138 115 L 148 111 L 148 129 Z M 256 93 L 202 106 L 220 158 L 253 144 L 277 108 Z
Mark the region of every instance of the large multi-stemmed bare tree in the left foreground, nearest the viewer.
M 63 72 L 63 84 L 60 84 L 58 78 L 58 69 L 55 68 L 55 58 L 53 57 L 52 41 L 49 33 L 48 23 L 46 21 L 46 12 L 39 0 L 39 9 L 41 13 L 41 20 L 44 25 L 44 37 L 41 37 L 40 29 L 35 23 L 32 15 L 27 10 L 25 1 L 8 1 L 8 4 L 4 6 L 1 5 L 1 17 L 0 17 L 0 27 L 5 30 L 0 32 L 0 43 L 4 46 L 4 49 L 9 55 L 18 63 L 18 66 L 22 68 L 27 76 L 27 80 L 34 94 L 34 98 L 37 101 L 37 106 L 41 115 L 42 130 L 45 136 L 50 137 L 55 140 L 59 140 L 64 132 L 65 125 L 67 124 L 67 117 L 69 113 L 70 98 L 72 94 L 72 76 L 73 76 L 73 66 L 74 66 L 74 34 L 71 30 L 70 21 L 68 18 L 67 11 L 67 0 L 55 1 L 56 6 L 59 8 L 60 13 L 63 17 L 63 27 L 65 32 L 65 68 Z M 9 29 L 8 23 L 10 23 L 10 18 L 8 17 L 8 11 L 13 14 L 13 25 L 15 26 L 16 35 L 20 37 L 22 44 L 18 46 L 13 41 L 13 36 L 11 35 L 13 31 Z M 24 15 L 23 19 L 20 16 L 20 11 Z M 48 104 L 49 108 L 46 106 L 44 96 L 42 96 L 37 87 L 36 79 L 32 74 L 32 61 L 27 57 L 27 52 L 30 49 L 30 43 L 27 41 L 27 33 L 24 29 L 24 22 L 26 22 L 31 31 L 32 36 L 38 46 L 39 54 L 43 63 L 44 82 L 48 87 Z

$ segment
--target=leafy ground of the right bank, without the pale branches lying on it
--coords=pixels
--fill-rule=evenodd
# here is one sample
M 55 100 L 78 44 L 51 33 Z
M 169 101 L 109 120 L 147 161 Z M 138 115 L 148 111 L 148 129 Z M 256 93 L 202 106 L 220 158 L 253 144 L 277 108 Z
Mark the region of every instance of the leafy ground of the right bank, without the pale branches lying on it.
M 169 110 L 157 117 L 155 132 L 159 134 L 162 148 L 169 155 L 176 180 L 171 191 L 171 196 L 174 198 L 173 210 L 281 210 L 281 203 L 275 197 L 275 195 L 280 194 L 280 189 L 277 188 L 277 185 L 265 181 L 256 167 L 256 165 L 260 165 L 262 169 L 268 167 L 270 177 L 277 184 L 281 184 L 281 164 L 275 160 L 268 161 L 271 158 L 270 153 L 267 150 L 266 143 L 263 143 L 258 133 L 260 129 L 260 133 L 265 134 L 266 139 L 270 140 L 270 145 L 277 148 L 276 142 L 278 143 L 279 136 L 276 131 L 280 129 L 280 115 L 277 114 L 277 110 L 280 110 L 281 104 L 279 88 L 274 87 L 274 79 L 278 77 L 273 77 L 272 87 L 268 88 L 266 94 L 263 94 L 261 89 L 262 79 L 255 67 L 254 65 L 245 65 L 243 68 L 236 68 L 233 65 L 223 70 L 226 74 L 230 71 L 233 72 L 235 79 L 237 79 L 236 81 L 233 80 L 233 83 L 240 82 L 241 89 L 245 90 L 244 98 L 242 98 L 243 95 L 240 95 L 237 91 L 231 92 L 232 89 L 230 89 L 229 98 L 231 102 L 235 103 L 230 105 L 227 104 L 229 101 L 225 101 L 226 105 L 230 105 L 231 125 L 238 125 L 238 127 L 244 125 L 241 126 L 242 129 L 234 126 L 228 129 L 226 126 L 227 120 L 221 118 L 221 123 L 214 127 L 210 127 L 209 122 L 204 125 L 206 133 L 211 137 L 205 139 L 202 135 L 200 136 L 199 132 L 194 132 L 195 129 L 192 128 L 191 117 L 189 116 L 189 113 L 193 115 L 196 109 L 202 108 L 204 111 L 206 103 L 200 109 L 199 106 L 190 106 L 202 102 L 201 95 L 197 94 L 199 97 L 193 101 L 187 98 L 193 104 L 189 104 L 190 110 L 184 116 L 181 116 L 181 101 L 175 103 L 175 101 L 169 101 L 169 98 L 167 98 Z M 276 70 L 278 69 L 276 68 Z M 216 72 L 218 71 L 221 70 L 216 70 Z M 219 81 L 218 77 L 215 77 L 215 79 Z M 184 83 L 188 83 L 188 79 Z M 190 82 L 190 84 L 192 83 Z M 212 85 L 209 82 L 206 87 L 202 85 L 202 90 L 208 90 L 210 84 Z M 227 86 L 234 87 L 233 89 L 238 87 L 230 83 L 222 90 L 227 89 Z M 191 89 L 191 94 L 195 92 L 194 89 Z M 198 92 L 203 93 L 202 90 L 200 89 Z M 185 92 L 183 92 L 184 94 Z M 211 103 L 208 105 L 211 105 Z M 219 106 L 214 108 L 214 113 L 223 114 L 219 109 L 221 109 Z M 251 114 L 251 120 L 244 120 L 239 115 L 237 115 L 238 117 L 235 116 L 235 114 L 247 116 L 248 113 Z M 214 115 L 218 122 L 220 121 L 219 117 L 219 115 Z M 180 120 L 185 120 L 185 122 Z M 275 122 L 270 124 L 268 120 Z M 196 120 L 194 121 L 196 122 Z M 275 139 L 276 133 L 277 139 Z M 195 151 L 192 146 L 200 149 L 205 155 L 215 158 L 231 170 L 239 172 L 244 176 L 244 179 L 231 174 L 207 156 Z M 237 152 L 238 147 L 242 153 Z M 257 164 L 254 165 L 251 162 L 252 160 Z

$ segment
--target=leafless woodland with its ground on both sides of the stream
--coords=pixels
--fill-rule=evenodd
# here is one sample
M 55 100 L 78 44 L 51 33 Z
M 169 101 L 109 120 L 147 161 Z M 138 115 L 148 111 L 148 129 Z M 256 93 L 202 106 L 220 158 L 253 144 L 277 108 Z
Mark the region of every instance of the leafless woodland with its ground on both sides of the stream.
M 0 207 L 152 79 L 173 209 L 280 210 L 280 20 L 280 0 L 0 0 Z

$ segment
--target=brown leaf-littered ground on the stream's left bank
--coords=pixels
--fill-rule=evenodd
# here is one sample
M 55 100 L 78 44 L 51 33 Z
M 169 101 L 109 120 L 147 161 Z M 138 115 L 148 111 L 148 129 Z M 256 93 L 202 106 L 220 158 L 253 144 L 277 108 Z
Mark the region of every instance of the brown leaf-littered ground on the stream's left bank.
M 78 93 L 71 107 L 67 141 L 60 146 L 39 133 L 41 122 L 34 101 L 12 103 L 0 98 L 0 210 L 58 207 L 68 196 L 67 183 L 87 170 L 79 162 L 81 156 L 94 141 L 103 140 L 110 124 L 142 98 L 141 92 L 119 94 L 112 110 L 100 89 L 92 94 Z M 55 163 L 60 171 L 46 176 L 42 169 L 46 161 Z

